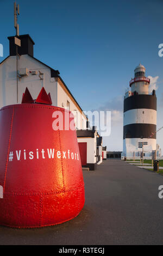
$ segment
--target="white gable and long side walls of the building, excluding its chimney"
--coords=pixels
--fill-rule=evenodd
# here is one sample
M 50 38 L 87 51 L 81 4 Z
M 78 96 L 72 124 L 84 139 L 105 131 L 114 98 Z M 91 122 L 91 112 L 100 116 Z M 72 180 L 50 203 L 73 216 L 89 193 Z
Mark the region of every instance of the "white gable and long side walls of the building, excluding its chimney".
M 80 113 L 71 98 L 61 88 L 59 82 L 51 77 L 51 69 L 46 65 L 27 55 L 18 59 L 18 70 L 27 68 L 28 75 L 18 80 L 18 103 L 22 101 L 22 95 L 28 87 L 33 99 L 36 99 L 44 86 L 47 93 L 51 93 L 52 105 L 67 107 L 67 100 L 70 102 L 70 111 L 76 110 L 79 115 L 78 129 L 86 129 L 86 117 Z M 37 71 L 37 75 L 30 74 L 30 71 Z M 43 73 L 43 80 L 40 80 L 39 71 Z M 0 65 L 0 108 L 17 103 L 16 90 L 16 56 L 10 56 Z

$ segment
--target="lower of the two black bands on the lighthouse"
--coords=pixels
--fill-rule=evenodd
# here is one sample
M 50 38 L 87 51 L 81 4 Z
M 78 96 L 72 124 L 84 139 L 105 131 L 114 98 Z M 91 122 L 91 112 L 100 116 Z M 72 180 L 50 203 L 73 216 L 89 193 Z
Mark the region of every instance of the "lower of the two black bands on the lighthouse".
M 123 139 L 125 138 L 152 138 L 156 139 L 156 125 L 129 124 L 123 126 Z M 151 137 L 150 137 L 151 136 Z

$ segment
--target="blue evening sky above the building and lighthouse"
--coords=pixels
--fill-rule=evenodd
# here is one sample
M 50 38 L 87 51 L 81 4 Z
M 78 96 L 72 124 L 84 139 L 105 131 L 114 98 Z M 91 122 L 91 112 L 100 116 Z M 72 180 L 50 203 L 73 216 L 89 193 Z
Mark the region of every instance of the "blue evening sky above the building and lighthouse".
M 15 34 L 12 0 L 0 0 L 4 57 L 7 36 Z M 83 110 L 112 111 L 108 150 L 122 150 L 122 96 L 145 65 L 146 76 L 156 77 L 158 128 L 163 126 L 163 1 L 161 0 L 19 0 L 20 34 L 30 34 L 34 56 L 60 71 L 62 79 Z M 0 60 L 3 59 L 0 57 Z M 163 129 L 158 132 L 163 151 Z

